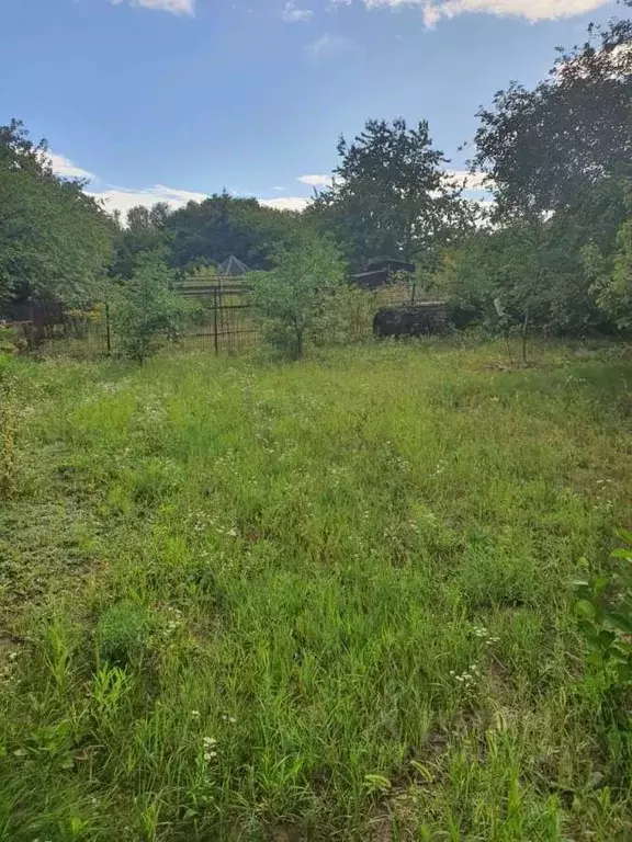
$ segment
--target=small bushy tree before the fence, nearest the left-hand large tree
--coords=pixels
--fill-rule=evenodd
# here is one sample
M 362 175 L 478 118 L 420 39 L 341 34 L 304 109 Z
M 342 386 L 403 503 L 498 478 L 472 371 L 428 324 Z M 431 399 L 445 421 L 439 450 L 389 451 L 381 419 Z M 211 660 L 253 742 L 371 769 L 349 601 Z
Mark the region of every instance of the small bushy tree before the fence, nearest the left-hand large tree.
M 172 292 L 172 273 L 159 255 L 146 254 L 119 292 L 114 311 L 123 354 L 140 365 L 177 335 L 190 305 Z

